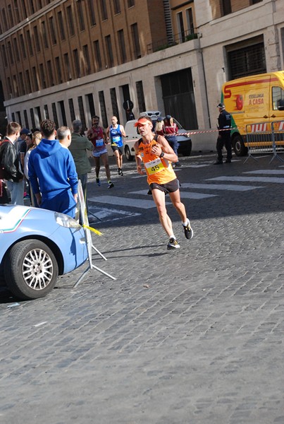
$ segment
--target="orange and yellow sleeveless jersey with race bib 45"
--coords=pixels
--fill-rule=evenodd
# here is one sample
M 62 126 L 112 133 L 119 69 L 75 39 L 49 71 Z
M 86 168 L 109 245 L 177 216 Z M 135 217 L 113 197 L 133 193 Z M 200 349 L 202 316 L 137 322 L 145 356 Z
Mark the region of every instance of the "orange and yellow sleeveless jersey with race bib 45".
M 173 181 L 176 175 L 169 160 L 159 158 L 159 156 L 150 153 L 152 146 L 155 144 L 157 144 L 155 140 L 152 140 L 149 144 L 144 144 L 143 141 L 141 141 L 138 146 L 138 153 L 142 158 L 147 172 L 148 184 L 152 182 L 156 182 L 156 184 L 166 184 L 167 182 Z

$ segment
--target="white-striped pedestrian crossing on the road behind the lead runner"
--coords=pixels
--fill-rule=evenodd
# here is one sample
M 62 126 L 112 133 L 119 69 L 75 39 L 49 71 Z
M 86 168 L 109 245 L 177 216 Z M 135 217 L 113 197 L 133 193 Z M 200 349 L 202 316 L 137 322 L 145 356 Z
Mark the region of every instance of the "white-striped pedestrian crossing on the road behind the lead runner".
M 180 188 L 181 198 L 196 201 L 209 200 L 211 197 L 223 196 L 224 192 L 249 192 L 264 189 L 267 183 L 284 183 L 284 177 L 281 177 L 281 175 L 284 175 L 284 170 L 280 168 L 277 170 L 245 171 L 242 174 L 245 176 L 220 175 L 218 177 L 206 178 L 201 183 L 183 182 Z M 131 177 L 134 178 L 137 175 Z M 125 194 L 123 196 L 94 196 L 89 198 L 88 202 L 89 211 L 99 220 L 104 220 L 104 222 L 107 220 L 140 216 L 143 213 L 142 210 L 156 208 L 152 196 L 148 195 L 148 189 L 135 191 L 130 189 L 127 196 Z M 171 204 L 171 201 L 166 202 L 166 205 L 169 204 Z

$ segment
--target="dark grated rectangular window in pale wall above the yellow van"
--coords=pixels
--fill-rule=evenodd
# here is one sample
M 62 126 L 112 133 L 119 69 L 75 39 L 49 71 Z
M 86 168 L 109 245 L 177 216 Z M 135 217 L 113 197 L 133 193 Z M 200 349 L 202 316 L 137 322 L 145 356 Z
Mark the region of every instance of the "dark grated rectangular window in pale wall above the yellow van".
M 230 79 L 266 73 L 264 43 L 258 43 L 228 52 Z

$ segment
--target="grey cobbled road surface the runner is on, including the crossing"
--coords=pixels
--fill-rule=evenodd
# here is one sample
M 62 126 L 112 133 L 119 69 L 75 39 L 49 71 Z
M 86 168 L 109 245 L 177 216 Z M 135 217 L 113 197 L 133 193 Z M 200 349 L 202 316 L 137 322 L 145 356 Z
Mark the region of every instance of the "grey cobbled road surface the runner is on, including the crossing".
M 284 163 L 180 158 L 194 237 L 167 251 L 147 182 L 89 179 L 93 264 L 46 298 L 1 290 L 1 424 L 284 423 Z

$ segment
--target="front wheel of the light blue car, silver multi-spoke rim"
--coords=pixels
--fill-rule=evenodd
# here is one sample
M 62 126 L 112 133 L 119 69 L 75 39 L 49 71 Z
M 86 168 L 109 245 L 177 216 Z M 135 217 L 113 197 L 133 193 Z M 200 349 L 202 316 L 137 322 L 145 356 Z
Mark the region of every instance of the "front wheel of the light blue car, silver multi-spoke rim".
M 43 298 L 56 284 L 58 264 L 51 249 L 40 240 L 23 240 L 13 245 L 4 261 L 8 289 L 16 297 Z

